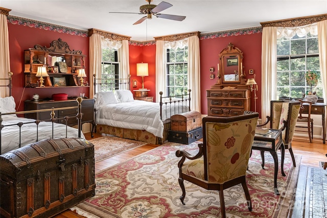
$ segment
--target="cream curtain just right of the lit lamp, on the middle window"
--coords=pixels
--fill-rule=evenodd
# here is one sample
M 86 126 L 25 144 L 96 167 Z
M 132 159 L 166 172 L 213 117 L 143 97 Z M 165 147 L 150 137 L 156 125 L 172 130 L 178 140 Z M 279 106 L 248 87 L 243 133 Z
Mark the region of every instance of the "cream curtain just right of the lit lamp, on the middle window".
M 166 93 L 166 69 L 165 69 L 165 44 L 162 40 L 156 41 L 155 47 L 155 87 L 156 87 L 156 102 L 160 102 L 159 91 L 162 91 L 162 96 L 167 96 Z

